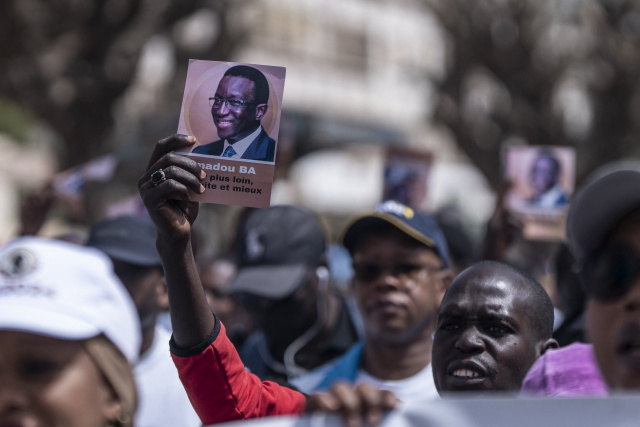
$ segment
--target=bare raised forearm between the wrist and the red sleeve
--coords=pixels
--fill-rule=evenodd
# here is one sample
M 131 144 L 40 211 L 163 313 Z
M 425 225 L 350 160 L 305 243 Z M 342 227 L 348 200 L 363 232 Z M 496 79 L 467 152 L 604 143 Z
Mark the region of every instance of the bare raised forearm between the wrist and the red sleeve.
M 167 280 L 175 343 L 182 348 L 193 347 L 211 334 L 215 320 L 200 282 L 191 240 L 159 234 L 156 246 Z

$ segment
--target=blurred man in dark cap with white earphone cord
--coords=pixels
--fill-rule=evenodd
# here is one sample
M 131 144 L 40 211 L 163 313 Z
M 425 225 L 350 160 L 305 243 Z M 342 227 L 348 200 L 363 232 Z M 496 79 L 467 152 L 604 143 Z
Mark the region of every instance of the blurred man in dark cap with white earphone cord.
M 344 298 L 330 286 L 326 238 L 314 214 L 290 205 L 254 210 L 236 248 L 230 292 L 259 328 L 240 351 L 251 372 L 286 382 L 358 341 Z

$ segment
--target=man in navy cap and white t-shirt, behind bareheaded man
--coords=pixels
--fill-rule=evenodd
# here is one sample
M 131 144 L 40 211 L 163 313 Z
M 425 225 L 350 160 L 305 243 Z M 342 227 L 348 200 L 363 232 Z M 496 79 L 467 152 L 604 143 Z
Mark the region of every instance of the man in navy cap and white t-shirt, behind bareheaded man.
M 395 201 L 349 225 L 352 289 L 365 338 L 340 360 L 294 381 L 303 392 L 368 383 L 411 402 L 438 395 L 432 334 L 452 280 L 444 236 L 431 217 Z

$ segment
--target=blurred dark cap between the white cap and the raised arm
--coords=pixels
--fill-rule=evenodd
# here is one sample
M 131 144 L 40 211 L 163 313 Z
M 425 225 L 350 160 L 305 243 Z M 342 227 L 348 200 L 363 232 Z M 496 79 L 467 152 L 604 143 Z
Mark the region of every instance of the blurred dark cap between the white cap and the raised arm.
M 96 224 L 87 246 L 109 258 L 143 267 L 162 266 L 156 250 L 156 227 L 148 218 L 120 216 Z

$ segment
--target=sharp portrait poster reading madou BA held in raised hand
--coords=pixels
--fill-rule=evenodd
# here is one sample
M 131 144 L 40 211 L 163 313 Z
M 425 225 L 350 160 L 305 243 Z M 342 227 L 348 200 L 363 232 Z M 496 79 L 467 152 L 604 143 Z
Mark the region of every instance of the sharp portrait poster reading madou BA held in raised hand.
M 269 207 L 286 69 L 189 60 L 178 133 L 207 174 L 193 200 Z

